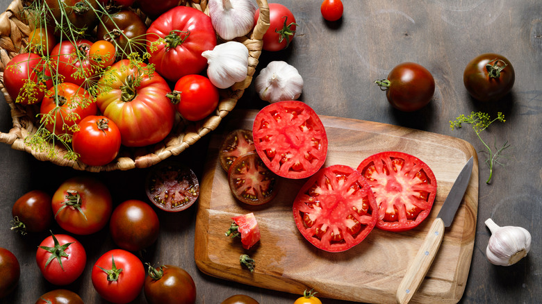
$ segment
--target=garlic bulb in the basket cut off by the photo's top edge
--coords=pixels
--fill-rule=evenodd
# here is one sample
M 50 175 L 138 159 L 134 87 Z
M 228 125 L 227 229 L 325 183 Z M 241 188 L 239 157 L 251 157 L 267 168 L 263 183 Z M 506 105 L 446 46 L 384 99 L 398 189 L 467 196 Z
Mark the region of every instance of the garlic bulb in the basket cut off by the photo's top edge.
M 211 23 L 224 40 L 247 35 L 254 27 L 254 0 L 209 0 L 208 8 Z

